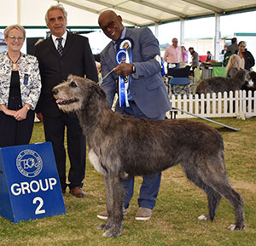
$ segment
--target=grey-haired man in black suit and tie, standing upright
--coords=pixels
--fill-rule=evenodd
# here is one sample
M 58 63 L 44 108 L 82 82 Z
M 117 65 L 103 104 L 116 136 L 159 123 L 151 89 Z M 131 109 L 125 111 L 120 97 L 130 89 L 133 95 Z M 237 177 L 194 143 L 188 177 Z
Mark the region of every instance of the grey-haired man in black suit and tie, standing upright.
M 38 117 L 44 121 L 45 140 L 53 145 L 62 193 L 67 188 L 64 147 L 65 127 L 67 128 L 67 152 L 70 160 L 68 186 L 75 197 L 85 197 L 82 189 L 86 161 L 85 137 L 76 115 L 58 109 L 52 89 L 66 80 L 69 74 L 88 77 L 97 82 L 96 64 L 87 37 L 74 35 L 66 30 L 67 12 L 62 5 L 50 7 L 45 14 L 45 21 L 51 35 L 38 43 L 35 49 L 42 78 Z

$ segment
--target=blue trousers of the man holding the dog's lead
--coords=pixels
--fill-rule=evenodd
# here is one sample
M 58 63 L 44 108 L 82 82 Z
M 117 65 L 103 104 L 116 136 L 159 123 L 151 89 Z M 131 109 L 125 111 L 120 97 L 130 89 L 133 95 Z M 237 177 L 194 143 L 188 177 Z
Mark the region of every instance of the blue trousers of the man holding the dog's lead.
M 146 115 L 143 114 L 143 112 L 141 112 L 141 110 L 137 107 L 135 103 L 130 103 L 130 107 L 124 107 L 122 109 L 122 114 L 140 118 L 148 118 Z M 165 117 L 166 115 L 162 115 L 160 117 L 157 117 L 156 119 L 164 119 Z M 150 177 L 143 176 L 143 184 L 140 188 L 140 194 L 138 198 L 139 207 L 144 207 L 148 209 L 154 208 L 155 199 L 160 189 L 160 180 L 161 173 L 155 174 L 154 176 Z M 125 196 L 124 207 L 125 209 L 127 209 L 129 207 L 131 197 L 133 196 L 134 178 L 125 180 L 125 189 L 127 193 Z

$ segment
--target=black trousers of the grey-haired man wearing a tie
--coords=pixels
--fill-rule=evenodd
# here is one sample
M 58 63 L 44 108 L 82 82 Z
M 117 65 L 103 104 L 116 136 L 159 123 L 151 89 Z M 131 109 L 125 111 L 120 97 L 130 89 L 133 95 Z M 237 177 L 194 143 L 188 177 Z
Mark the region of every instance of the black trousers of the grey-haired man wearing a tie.
M 67 188 L 65 126 L 67 127 L 67 153 L 70 160 L 68 173 L 70 184 L 68 186 L 72 189 L 76 186 L 82 187 L 82 180 L 85 176 L 86 141 L 79 125 L 79 119 L 63 112 L 59 117 L 44 116 L 45 140 L 52 143 L 62 191 Z

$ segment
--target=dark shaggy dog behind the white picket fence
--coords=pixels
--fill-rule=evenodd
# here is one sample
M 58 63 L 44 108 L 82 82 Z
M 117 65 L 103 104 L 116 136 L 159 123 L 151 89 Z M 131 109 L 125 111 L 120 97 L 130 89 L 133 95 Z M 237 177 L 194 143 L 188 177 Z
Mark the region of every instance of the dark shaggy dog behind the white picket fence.
M 233 77 L 208 77 L 203 79 L 196 87 L 196 94 L 212 94 L 213 92 L 224 93 L 230 90 L 236 91 L 247 81 L 247 71 L 244 69 L 239 70 Z

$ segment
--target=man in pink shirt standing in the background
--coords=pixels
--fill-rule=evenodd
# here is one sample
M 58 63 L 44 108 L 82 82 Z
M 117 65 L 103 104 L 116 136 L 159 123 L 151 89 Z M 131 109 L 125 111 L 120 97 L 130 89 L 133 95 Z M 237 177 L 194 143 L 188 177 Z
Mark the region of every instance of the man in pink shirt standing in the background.
M 179 68 L 181 58 L 181 48 L 177 46 L 177 38 L 172 38 L 172 45 L 165 51 L 164 60 L 168 63 L 168 68 Z

